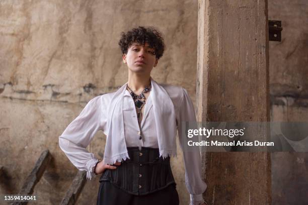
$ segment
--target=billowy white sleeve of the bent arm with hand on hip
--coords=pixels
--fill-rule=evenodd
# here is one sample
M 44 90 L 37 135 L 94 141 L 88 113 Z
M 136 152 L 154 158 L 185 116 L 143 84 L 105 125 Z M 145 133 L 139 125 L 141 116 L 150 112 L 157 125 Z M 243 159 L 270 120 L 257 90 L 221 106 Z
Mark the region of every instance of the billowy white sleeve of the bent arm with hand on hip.
M 103 129 L 101 96 L 91 99 L 80 115 L 59 136 L 59 146 L 70 162 L 79 170 L 87 171 L 87 179 L 94 173 L 92 168 L 98 160 L 86 147 L 98 130 Z

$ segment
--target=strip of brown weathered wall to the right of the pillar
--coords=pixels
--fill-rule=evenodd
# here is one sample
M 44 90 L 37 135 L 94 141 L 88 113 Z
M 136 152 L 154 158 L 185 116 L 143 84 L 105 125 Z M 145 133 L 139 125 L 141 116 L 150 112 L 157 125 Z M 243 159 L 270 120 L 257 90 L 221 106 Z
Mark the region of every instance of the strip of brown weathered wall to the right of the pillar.
M 269 20 L 282 21 L 281 42 L 270 42 L 272 121 L 308 121 L 308 2 L 268 2 Z M 275 204 L 308 204 L 307 153 L 272 154 Z

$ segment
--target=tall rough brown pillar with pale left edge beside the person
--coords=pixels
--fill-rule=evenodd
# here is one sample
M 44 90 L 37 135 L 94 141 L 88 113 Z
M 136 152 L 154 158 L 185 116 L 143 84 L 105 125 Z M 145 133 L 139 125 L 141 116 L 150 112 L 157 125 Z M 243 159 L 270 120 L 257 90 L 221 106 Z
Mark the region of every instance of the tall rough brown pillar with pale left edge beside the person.
M 270 121 L 267 0 L 199 0 L 197 66 L 198 121 Z M 203 150 L 202 163 L 209 204 L 271 203 L 269 153 Z

